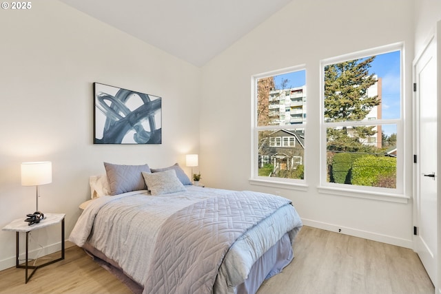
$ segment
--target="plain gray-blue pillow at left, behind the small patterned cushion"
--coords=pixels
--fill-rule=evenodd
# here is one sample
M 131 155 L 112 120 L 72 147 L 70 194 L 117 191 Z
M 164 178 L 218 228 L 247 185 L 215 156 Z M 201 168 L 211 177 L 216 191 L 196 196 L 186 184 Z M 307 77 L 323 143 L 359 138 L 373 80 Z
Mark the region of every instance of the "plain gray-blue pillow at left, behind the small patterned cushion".
M 147 189 L 141 172 L 150 173 L 148 165 L 114 165 L 104 162 L 104 167 L 110 195 Z

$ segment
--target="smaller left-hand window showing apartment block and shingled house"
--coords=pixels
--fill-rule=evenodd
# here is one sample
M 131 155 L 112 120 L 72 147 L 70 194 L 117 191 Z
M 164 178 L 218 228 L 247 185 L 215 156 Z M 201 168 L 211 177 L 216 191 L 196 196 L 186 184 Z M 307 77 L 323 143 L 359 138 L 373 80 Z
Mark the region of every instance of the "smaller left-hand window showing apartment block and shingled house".
M 304 179 L 305 81 L 304 67 L 254 77 L 252 178 L 274 182 Z

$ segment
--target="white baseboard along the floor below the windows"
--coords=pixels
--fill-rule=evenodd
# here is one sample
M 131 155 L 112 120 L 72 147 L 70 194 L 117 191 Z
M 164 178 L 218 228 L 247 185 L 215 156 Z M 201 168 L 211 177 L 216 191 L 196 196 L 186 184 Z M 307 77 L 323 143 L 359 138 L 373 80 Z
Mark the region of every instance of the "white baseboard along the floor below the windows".
M 412 240 L 406 240 L 402 238 L 396 238 L 389 235 L 382 235 L 379 233 L 373 233 L 369 231 L 362 231 L 359 229 L 353 229 L 349 227 L 341 227 L 336 224 L 328 224 L 325 222 L 317 222 L 315 220 L 307 220 L 305 218 L 302 218 L 303 224 L 308 227 L 314 227 L 317 229 L 323 229 L 327 231 L 333 231 L 337 233 L 342 233 L 345 235 L 351 235 L 358 238 L 365 238 L 368 240 L 373 240 L 377 242 L 392 244 L 396 246 L 401 246 L 404 248 L 413 249 L 413 243 Z M 441 293 L 440 293 L 441 294 Z

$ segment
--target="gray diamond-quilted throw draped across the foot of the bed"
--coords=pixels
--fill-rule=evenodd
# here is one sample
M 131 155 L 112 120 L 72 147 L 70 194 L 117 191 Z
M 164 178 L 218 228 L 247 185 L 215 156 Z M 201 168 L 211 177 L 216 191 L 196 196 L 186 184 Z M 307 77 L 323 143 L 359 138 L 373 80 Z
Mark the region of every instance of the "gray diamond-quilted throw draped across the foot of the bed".
M 177 211 L 158 233 L 144 293 L 212 293 L 229 247 L 285 205 L 286 198 L 242 191 Z

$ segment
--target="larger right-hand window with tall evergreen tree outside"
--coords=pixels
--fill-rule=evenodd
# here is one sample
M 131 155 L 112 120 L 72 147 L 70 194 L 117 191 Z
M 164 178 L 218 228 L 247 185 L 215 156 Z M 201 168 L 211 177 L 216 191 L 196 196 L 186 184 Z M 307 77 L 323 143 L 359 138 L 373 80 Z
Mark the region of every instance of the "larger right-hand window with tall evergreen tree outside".
M 403 193 L 401 45 L 322 61 L 322 187 Z

